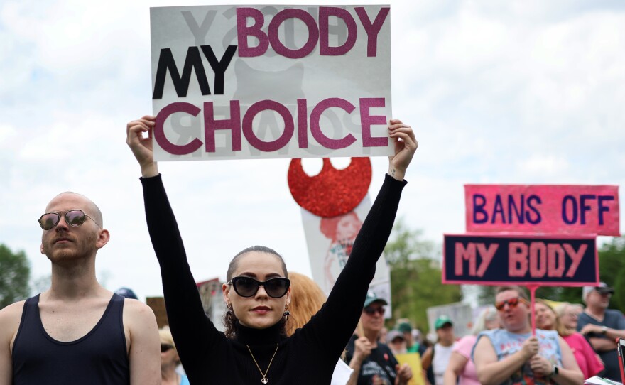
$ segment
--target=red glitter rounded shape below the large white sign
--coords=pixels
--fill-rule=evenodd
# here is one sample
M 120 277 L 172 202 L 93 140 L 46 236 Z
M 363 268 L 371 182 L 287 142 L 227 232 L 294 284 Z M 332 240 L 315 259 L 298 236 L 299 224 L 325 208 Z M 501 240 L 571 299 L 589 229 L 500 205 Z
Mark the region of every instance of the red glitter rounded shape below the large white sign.
M 310 176 L 302 168 L 301 159 L 288 166 L 288 188 L 298 205 L 319 217 L 336 217 L 356 208 L 371 185 L 369 158 L 352 158 L 347 168 L 337 170 L 330 158 L 323 158 L 323 167 Z

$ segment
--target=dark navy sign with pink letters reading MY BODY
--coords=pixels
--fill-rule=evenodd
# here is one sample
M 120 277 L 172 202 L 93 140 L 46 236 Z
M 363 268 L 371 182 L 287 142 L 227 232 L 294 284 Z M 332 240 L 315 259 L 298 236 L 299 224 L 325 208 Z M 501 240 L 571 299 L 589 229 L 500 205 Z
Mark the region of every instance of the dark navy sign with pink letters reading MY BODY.
M 584 286 L 599 282 L 595 237 L 445 234 L 442 283 Z

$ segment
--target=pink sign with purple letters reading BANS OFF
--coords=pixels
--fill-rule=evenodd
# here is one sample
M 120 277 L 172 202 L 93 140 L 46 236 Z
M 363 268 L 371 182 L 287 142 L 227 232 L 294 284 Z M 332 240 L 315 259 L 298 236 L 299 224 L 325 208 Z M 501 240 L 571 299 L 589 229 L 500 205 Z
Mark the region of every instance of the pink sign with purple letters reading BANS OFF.
M 464 185 L 467 232 L 620 236 L 612 185 Z

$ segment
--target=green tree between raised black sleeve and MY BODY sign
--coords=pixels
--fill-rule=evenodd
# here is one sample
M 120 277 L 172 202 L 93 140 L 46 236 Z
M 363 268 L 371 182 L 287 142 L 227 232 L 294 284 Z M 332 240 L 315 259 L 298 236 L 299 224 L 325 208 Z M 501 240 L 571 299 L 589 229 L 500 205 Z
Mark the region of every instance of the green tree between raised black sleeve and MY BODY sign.
M 408 318 L 427 332 L 427 308 L 462 299 L 460 286 L 441 283 L 434 244 L 422 240 L 421 232 L 408 229 L 403 220 L 396 222 L 384 255 L 391 269 L 393 320 Z

